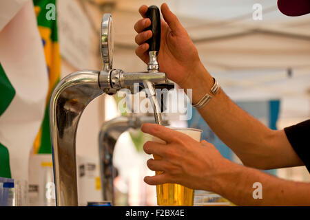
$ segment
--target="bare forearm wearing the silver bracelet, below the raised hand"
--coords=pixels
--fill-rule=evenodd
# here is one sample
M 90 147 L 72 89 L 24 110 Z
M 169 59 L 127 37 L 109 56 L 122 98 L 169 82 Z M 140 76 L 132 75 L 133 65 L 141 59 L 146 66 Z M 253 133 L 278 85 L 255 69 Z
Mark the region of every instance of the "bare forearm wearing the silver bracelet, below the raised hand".
M 192 100 L 196 103 L 206 93 L 211 94 L 210 89 L 214 80 L 202 64 L 194 71 L 191 80 L 187 80 L 187 83 L 181 86 L 184 89 L 192 89 Z M 227 144 L 245 164 L 247 160 L 251 163 L 256 160 L 260 162 L 260 154 L 261 157 L 265 157 L 265 154 L 269 155 L 267 152 L 269 146 L 265 141 L 271 130 L 240 109 L 223 89 L 220 89 L 205 107 L 199 109 L 199 113 L 220 140 Z

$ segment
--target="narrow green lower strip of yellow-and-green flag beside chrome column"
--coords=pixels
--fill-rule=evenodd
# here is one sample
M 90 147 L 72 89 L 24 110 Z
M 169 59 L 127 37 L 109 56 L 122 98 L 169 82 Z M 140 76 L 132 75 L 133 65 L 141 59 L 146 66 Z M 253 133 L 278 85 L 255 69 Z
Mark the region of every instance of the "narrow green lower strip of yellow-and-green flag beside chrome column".
M 44 118 L 42 122 L 42 135 L 41 135 L 41 146 L 38 153 L 52 153 L 52 143 L 50 141 L 50 104 L 45 109 Z

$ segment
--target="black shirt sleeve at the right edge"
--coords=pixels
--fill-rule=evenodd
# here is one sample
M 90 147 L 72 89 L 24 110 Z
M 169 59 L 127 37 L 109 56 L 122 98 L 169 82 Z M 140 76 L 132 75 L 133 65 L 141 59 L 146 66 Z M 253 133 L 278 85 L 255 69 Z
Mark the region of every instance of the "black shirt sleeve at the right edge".
M 310 172 L 310 120 L 285 129 L 289 143 Z

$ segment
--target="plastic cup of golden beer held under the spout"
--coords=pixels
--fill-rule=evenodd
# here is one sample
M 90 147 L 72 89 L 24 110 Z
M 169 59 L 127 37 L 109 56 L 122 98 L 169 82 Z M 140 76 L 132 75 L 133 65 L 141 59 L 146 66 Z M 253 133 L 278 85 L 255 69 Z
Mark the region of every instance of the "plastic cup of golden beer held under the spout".
M 199 129 L 189 128 L 169 128 L 186 135 L 189 135 L 194 140 L 200 142 L 202 131 Z M 154 142 L 165 143 L 163 140 L 153 137 Z M 154 159 L 161 159 L 158 155 L 153 155 Z M 156 171 L 156 175 L 163 173 Z M 194 205 L 194 190 L 180 184 L 161 184 L 156 186 L 157 204 L 158 206 L 193 206 Z

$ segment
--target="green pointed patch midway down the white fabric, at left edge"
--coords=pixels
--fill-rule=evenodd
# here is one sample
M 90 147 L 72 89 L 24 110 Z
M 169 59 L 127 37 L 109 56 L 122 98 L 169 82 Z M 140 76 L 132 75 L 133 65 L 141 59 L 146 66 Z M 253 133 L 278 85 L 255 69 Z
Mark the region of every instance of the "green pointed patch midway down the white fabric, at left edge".
M 0 115 L 10 105 L 12 102 L 14 96 L 15 96 L 15 89 L 10 83 L 10 80 L 6 76 L 6 73 L 4 72 L 4 69 L 0 63 Z

